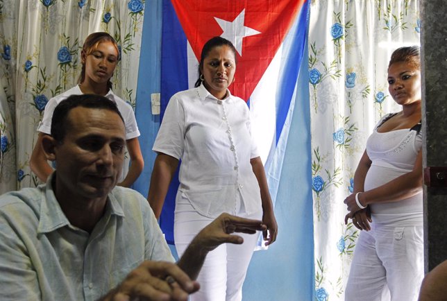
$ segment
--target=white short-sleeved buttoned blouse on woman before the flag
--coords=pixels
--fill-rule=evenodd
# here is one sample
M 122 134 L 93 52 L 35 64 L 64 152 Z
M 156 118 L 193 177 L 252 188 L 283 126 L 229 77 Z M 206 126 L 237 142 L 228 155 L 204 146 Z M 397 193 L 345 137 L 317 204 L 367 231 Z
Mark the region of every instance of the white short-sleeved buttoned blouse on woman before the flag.
M 200 214 L 235 214 L 238 194 L 248 214 L 261 209 L 260 187 L 250 164 L 258 157 L 246 103 L 219 100 L 203 85 L 172 96 L 153 150 L 181 159 L 180 191 Z

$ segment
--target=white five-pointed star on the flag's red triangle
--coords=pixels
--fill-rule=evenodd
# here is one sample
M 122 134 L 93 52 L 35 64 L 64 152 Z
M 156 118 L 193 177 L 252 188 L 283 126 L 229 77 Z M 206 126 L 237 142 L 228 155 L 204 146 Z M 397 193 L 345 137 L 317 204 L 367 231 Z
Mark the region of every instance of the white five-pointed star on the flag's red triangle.
M 260 34 L 259 31 L 244 26 L 245 8 L 233 20 L 233 22 L 228 22 L 226 20 L 219 19 L 217 17 L 214 17 L 214 19 L 216 19 L 217 23 L 219 24 L 219 26 L 221 26 L 223 30 L 221 37 L 232 42 L 236 48 L 237 53 L 239 53 L 239 55 L 241 56 L 242 56 L 242 40 L 244 39 L 244 37 Z

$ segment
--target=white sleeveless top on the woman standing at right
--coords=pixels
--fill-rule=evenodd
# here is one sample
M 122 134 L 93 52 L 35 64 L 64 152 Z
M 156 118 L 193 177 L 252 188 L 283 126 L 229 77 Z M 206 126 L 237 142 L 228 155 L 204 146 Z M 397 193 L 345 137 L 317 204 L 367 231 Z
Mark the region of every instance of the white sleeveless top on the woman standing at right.
M 379 123 L 389 117 L 387 115 Z M 378 132 L 374 129 L 366 142 L 366 153 L 372 164 L 366 174 L 364 190 L 379 187 L 414 167 L 422 147 L 422 133 L 414 129 Z M 391 226 L 421 226 L 423 223 L 422 192 L 396 202 L 371 204 L 373 222 Z

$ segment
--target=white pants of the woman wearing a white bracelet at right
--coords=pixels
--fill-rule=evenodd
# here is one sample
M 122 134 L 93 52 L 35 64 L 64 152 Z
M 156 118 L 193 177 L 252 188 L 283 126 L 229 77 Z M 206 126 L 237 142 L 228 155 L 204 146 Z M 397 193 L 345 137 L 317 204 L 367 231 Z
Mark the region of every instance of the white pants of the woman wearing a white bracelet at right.
M 416 301 L 423 261 L 423 227 L 371 224 L 357 240 L 345 300 Z

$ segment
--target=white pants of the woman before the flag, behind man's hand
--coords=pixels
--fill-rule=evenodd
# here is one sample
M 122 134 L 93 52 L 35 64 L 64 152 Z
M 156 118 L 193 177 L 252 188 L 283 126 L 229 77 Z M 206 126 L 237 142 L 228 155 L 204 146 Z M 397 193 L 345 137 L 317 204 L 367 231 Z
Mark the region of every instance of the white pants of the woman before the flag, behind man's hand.
M 237 216 L 262 218 L 262 209 L 256 214 L 247 215 L 242 203 L 240 201 L 238 203 Z M 187 198 L 178 195 L 174 216 L 174 240 L 179 257 L 183 255 L 194 236 L 212 221 L 214 218 L 197 213 Z M 242 300 L 242 284 L 258 241 L 258 234 L 238 233 L 238 235 L 244 238 L 242 245 L 224 243 L 208 253 L 197 277 L 200 290 L 191 295 L 191 301 Z

